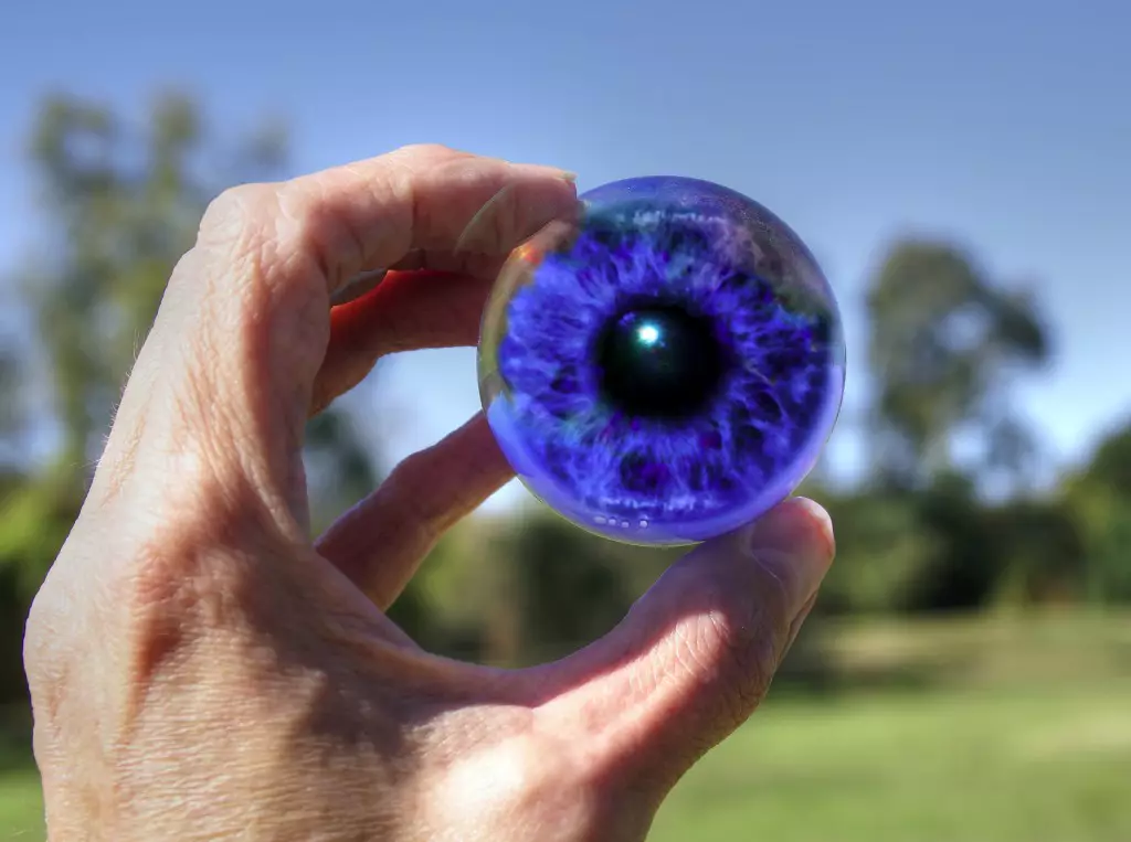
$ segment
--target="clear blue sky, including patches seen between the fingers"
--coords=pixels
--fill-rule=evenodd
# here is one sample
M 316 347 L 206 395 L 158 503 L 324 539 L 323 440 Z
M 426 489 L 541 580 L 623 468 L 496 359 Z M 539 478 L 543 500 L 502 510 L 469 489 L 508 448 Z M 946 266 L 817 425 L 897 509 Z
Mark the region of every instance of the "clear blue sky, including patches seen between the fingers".
M 141 113 L 199 94 L 236 134 L 292 129 L 295 174 L 408 142 L 578 173 L 717 181 L 783 217 L 841 302 L 862 460 L 862 289 L 900 234 L 1036 289 L 1056 359 L 1018 389 L 1054 466 L 1131 413 L 1131 5 L 1122 0 L 571 0 L 164 5 L 7 0 L 0 274 L 35 243 L 24 149 L 51 90 Z M 474 351 L 396 359 L 363 417 L 399 458 L 478 408 Z M 513 489 L 495 505 L 519 500 Z

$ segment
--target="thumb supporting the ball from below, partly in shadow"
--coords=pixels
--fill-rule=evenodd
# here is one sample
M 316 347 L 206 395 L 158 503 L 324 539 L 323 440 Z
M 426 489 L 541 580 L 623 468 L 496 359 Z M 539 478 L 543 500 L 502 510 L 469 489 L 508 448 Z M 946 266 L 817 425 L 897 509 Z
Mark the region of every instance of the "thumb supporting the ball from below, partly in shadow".
M 834 552 L 828 514 L 800 497 L 697 547 L 558 665 L 567 727 L 604 770 L 666 792 L 761 702 Z

